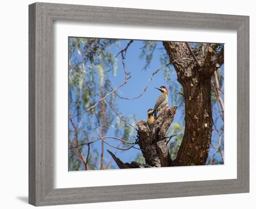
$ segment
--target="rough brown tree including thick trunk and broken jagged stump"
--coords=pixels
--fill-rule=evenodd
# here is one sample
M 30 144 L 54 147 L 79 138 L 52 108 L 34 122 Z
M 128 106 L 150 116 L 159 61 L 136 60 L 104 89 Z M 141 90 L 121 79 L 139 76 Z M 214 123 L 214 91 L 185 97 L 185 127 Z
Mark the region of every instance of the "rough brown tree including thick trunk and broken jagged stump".
M 164 142 L 166 131 L 175 116 L 177 106 L 161 111 L 151 127 L 145 121 L 137 123 L 138 144 L 146 164 L 122 163 L 108 151 L 119 168 L 145 168 L 204 165 L 212 133 L 211 77 L 224 62 L 223 48 L 216 52 L 217 44 L 201 44 L 199 49 L 184 42 L 163 42 L 170 62 L 183 87 L 185 99 L 185 131 L 177 157 L 172 161 Z M 189 58 L 189 59 L 186 59 Z

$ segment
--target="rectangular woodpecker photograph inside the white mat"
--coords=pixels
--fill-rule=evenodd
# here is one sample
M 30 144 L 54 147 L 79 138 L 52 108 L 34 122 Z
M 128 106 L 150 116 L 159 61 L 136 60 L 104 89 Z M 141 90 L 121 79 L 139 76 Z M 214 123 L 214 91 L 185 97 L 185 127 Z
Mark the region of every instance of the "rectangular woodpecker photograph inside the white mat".
M 223 165 L 224 89 L 223 43 L 68 37 L 68 171 Z

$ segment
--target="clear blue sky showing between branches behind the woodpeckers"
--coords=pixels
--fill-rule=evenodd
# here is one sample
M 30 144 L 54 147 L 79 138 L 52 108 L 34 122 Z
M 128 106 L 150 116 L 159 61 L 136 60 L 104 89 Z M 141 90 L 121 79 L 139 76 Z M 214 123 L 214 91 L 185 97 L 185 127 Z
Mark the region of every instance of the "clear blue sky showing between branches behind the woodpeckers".
M 113 54 L 117 54 L 120 52 L 121 49 L 125 48 L 129 40 L 122 40 L 120 48 L 117 48 L 116 45 L 111 46 L 110 50 Z M 124 86 L 122 86 L 120 89 L 117 90 L 117 93 L 126 98 L 134 98 L 136 96 L 139 96 L 141 92 L 144 90 L 148 79 L 151 77 L 152 72 L 154 72 L 157 68 L 161 67 L 162 64 L 160 62 L 160 55 L 162 54 L 162 51 L 160 50 L 162 46 L 162 42 L 159 41 L 157 42 L 156 50 L 154 52 L 154 56 L 152 59 L 152 62 L 148 69 L 146 71 L 142 71 L 142 68 L 145 66 L 145 60 L 140 59 L 140 54 L 141 54 L 141 47 L 144 46 L 143 41 L 136 40 L 134 41 L 127 50 L 126 53 L 126 59 L 125 59 L 125 64 L 127 71 L 130 72 L 131 78 L 128 80 L 128 83 Z M 122 63 L 121 63 L 121 55 L 117 57 L 118 59 L 118 68 L 117 68 L 117 74 L 116 77 L 113 76 L 112 72 L 109 72 L 108 78 L 110 79 L 113 87 L 120 85 L 123 80 L 124 80 L 124 72 L 122 68 Z M 220 69 L 223 71 L 223 66 Z M 164 80 L 164 75 L 163 75 L 163 69 L 160 70 L 154 77 L 153 80 L 149 83 L 147 91 L 138 99 L 135 100 L 125 100 L 125 99 L 117 99 L 116 100 L 116 107 L 118 108 L 118 111 L 122 115 L 136 115 L 137 120 L 142 120 L 142 119 L 147 119 L 147 110 L 149 108 L 153 108 L 155 105 L 155 101 L 159 94 L 161 93 L 160 91 L 156 90 L 154 87 L 160 87 L 162 85 L 164 86 L 172 86 L 172 85 L 179 85 L 177 82 L 177 75 L 176 72 L 171 66 L 171 83 L 167 82 Z M 171 99 L 172 97 L 175 97 L 177 95 L 174 95 L 174 92 L 169 90 L 168 94 L 168 104 L 169 106 L 173 105 L 178 105 L 175 104 L 175 101 Z M 213 108 L 213 114 L 218 114 L 216 111 L 214 111 L 216 107 Z M 217 109 L 216 109 L 217 110 Z M 184 115 L 183 115 L 184 108 L 183 106 L 180 106 L 175 115 L 174 122 L 180 122 L 184 125 Z M 84 118 L 86 120 L 86 118 Z M 216 123 L 217 127 L 222 126 L 222 120 L 219 118 Z M 108 133 L 106 134 L 108 136 L 115 136 L 115 132 L 112 130 L 109 130 Z M 134 134 L 136 136 L 136 134 Z M 93 139 L 91 139 L 93 140 Z M 215 134 L 212 135 L 212 140 L 217 141 L 218 136 Z M 108 139 L 108 142 L 117 145 L 118 142 L 112 139 Z M 101 149 L 101 141 L 98 141 L 94 143 L 94 147 L 96 149 Z M 111 159 L 111 156 L 108 154 L 107 149 L 115 152 L 116 149 L 109 147 L 107 144 L 104 145 L 104 156 L 106 157 L 106 161 Z M 213 154 L 212 148 L 210 149 L 209 155 L 211 156 Z M 84 147 L 84 155 L 87 156 L 87 146 Z M 121 151 L 119 150 L 116 153 L 116 156 L 119 157 L 123 162 L 130 162 L 135 159 L 137 154 L 141 153 L 140 150 L 135 150 L 135 149 L 130 149 L 127 151 Z M 114 162 L 114 161 L 113 161 Z M 114 163 L 115 164 L 115 163 Z M 116 167 L 117 168 L 117 167 Z

